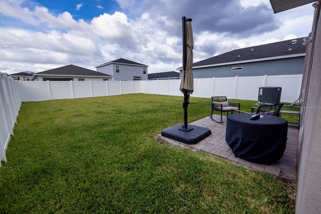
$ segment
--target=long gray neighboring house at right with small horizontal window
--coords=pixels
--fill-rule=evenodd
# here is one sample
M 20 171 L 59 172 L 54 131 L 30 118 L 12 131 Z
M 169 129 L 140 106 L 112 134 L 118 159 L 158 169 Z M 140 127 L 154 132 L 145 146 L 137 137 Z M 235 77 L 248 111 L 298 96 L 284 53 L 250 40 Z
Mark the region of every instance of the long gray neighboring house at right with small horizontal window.
M 303 38 L 237 49 L 193 63 L 194 78 L 302 74 Z M 183 69 L 180 77 L 182 78 Z

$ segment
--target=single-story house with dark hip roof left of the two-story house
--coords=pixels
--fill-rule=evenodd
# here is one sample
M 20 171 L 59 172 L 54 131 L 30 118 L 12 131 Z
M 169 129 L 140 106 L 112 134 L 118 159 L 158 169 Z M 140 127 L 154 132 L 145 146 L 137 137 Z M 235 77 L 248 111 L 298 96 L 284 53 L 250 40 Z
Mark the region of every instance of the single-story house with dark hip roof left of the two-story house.
M 32 77 L 33 81 L 108 81 L 112 76 L 99 73 L 86 68 L 75 65 L 67 65 L 60 68 L 51 69 L 35 73 Z

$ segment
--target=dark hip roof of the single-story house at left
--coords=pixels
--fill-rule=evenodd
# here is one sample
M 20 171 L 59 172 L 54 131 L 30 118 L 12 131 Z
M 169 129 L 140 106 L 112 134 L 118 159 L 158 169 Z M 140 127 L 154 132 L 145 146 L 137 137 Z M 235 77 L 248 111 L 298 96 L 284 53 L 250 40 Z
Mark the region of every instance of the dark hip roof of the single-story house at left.
M 34 74 L 32 80 L 37 76 L 87 76 L 87 77 L 112 77 L 108 74 L 92 71 L 75 65 L 67 65 Z

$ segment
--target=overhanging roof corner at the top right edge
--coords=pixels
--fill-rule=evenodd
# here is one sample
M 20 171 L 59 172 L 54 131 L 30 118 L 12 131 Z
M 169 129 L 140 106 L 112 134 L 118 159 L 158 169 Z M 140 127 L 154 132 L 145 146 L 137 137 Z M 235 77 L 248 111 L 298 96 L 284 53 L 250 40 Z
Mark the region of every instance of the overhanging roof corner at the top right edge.
M 315 0 L 270 0 L 274 14 L 315 2 Z

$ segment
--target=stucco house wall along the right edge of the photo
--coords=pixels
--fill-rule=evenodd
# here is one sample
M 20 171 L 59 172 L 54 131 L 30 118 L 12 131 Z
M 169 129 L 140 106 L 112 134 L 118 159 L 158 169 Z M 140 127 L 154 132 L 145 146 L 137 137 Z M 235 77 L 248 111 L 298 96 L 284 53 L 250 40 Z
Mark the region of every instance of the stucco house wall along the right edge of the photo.
M 300 129 L 302 138 L 299 139 L 301 148 L 295 213 L 321 213 L 321 26 L 320 18 L 316 17 L 311 73 L 306 103 L 302 106 L 304 120 Z

